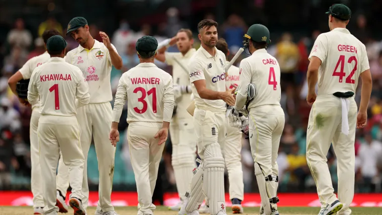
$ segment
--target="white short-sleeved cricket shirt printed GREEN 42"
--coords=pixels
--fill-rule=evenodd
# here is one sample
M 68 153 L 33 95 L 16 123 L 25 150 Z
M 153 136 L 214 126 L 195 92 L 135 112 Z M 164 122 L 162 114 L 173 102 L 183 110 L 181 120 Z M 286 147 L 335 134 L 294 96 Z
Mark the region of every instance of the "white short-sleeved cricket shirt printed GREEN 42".
M 345 28 L 320 34 L 309 55 L 320 58 L 317 95 L 355 92 L 359 75 L 370 68 L 365 45 Z

